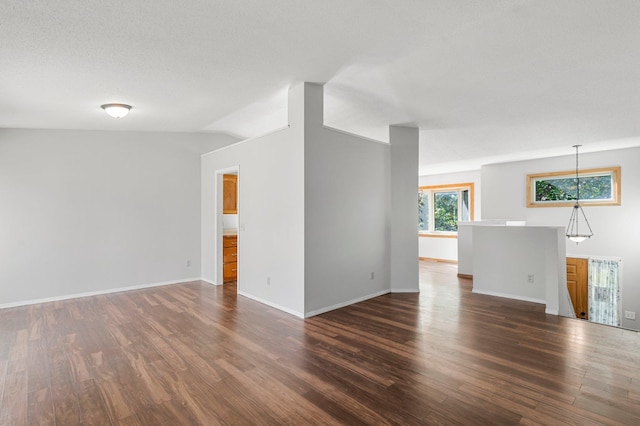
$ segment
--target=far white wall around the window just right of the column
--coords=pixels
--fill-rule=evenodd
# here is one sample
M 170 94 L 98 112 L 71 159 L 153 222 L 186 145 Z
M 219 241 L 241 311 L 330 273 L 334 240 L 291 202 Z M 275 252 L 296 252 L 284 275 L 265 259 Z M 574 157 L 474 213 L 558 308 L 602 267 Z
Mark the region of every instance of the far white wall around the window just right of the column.
M 480 170 L 420 176 L 419 186 L 449 185 L 468 182 L 473 182 L 474 184 L 474 220 L 477 221 L 482 217 L 482 199 L 480 196 L 482 193 L 482 183 Z M 418 255 L 420 257 L 450 261 L 458 260 L 457 238 L 438 238 L 422 235 L 418 239 L 418 244 Z

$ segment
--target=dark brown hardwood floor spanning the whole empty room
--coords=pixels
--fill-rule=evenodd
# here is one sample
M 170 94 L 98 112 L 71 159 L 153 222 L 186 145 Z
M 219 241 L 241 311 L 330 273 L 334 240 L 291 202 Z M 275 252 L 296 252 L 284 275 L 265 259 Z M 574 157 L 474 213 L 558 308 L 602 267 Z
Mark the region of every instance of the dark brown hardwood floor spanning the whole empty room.
M 420 279 L 307 320 L 201 282 L 0 310 L 0 425 L 640 424 L 638 333 Z

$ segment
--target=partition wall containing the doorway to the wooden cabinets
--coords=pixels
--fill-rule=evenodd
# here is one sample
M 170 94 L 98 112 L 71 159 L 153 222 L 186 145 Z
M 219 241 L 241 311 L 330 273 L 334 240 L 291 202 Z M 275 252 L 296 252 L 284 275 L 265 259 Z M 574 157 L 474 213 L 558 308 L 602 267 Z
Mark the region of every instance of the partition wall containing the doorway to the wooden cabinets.
M 304 86 L 290 127 L 202 156 L 202 276 L 221 284 L 216 173 L 238 167 L 238 292 L 304 316 Z M 220 185 L 221 187 L 221 185 Z M 270 284 L 267 284 L 267 278 Z

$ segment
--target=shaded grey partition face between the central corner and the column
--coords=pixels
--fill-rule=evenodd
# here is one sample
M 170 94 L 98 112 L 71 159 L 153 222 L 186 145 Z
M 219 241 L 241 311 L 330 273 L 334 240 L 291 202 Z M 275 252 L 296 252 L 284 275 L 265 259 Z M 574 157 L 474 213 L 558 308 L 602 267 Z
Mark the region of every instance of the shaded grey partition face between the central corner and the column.
M 323 127 L 322 97 L 306 85 L 306 316 L 390 291 L 389 145 Z

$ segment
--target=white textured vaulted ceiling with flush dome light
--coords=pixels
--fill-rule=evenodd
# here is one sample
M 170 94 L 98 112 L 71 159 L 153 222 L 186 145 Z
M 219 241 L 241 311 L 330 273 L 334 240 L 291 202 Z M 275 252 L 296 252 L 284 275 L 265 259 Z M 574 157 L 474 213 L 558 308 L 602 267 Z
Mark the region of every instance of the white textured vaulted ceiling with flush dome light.
M 245 138 L 303 81 L 329 126 L 419 126 L 421 174 L 640 146 L 640 1 L 0 2 L 0 127 Z

